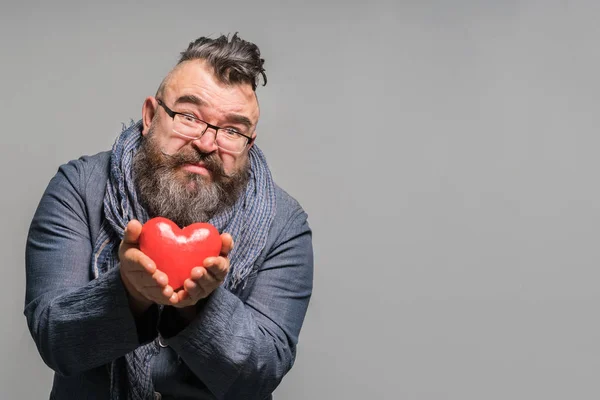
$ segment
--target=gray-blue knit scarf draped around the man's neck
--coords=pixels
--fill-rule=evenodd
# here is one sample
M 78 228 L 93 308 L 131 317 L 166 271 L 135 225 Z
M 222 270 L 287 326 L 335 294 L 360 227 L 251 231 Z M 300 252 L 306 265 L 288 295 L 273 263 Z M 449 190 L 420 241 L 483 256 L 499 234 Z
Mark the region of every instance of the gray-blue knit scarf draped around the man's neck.
M 142 124 L 131 122 L 115 141 L 110 158 L 110 173 L 104 195 L 104 220 L 92 258 L 95 278 L 118 268 L 118 245 L 131 219 L 142 224 L 148 213 L 138 201 L 132 176 L 133 156 L 142 140 Z M 250 179 L 236 204 L 210 221 L 219 232 L 228 232 L 235 247 L 229 254 L 230 271 L 224 286 L 233 293 L 244 288 L 246 278 L 265 247 L 275 216 L 275 188 L 271 172 L 260 149 L 249 151 Z M 150 359 L 158 353 L 157 340 L 113 361 L 110 365 L 111 398 L 114 400 L 153 399 Z

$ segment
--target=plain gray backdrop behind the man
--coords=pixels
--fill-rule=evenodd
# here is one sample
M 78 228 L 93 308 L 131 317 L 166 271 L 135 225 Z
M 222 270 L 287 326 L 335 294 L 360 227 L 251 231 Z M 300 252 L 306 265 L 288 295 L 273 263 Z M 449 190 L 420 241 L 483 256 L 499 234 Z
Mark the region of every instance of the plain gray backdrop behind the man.
M 600 5 L 2 4 L 0 398 L 47 398 L 24 245 L 58 166 L 109 148 L 178 52 L 239 31 L 259 145 L 315 287 L 278 399 L 600 397 Z

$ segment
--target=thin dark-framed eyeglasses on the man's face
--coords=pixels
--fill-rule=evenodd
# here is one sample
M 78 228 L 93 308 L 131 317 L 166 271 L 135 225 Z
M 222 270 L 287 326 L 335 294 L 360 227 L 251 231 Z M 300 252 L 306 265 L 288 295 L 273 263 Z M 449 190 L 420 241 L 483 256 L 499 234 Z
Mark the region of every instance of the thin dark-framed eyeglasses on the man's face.
M 173 132 L 186 139 L 198 140 L 206 133 L 208 128 L 215 131 L 215 144 L 218 148 L 230 153 L 241 153 L 253 139 L 233 128 L 220 128 L 191 114 L 171 110 L 160 99 L 158 104 L 165 109 L 169 117 L 173 118 Z

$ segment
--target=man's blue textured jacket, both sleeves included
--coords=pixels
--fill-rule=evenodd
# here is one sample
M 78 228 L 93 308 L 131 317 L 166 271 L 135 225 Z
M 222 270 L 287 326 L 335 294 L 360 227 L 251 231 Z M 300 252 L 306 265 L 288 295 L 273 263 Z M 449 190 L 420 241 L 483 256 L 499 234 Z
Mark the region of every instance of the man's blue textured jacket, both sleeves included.
M 55 371 L 52 399 L 109 399 L 108 365 L 160 334 L 162 398 L 265 399 L 292 367 L 313 281 L 307 215 L 276 186 L 267 245 L 244 289 L 216 289 L 189 325 L 172 307 L 134 319 L 118 269 L 92 279 L 110 152 L 61 166 L 27 239 L 25 316 Z

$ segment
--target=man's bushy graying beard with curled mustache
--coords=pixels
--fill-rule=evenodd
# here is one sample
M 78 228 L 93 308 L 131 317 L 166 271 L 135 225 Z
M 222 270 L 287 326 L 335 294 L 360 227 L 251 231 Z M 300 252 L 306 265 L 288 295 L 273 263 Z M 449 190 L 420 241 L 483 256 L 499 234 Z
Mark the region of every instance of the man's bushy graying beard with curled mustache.
M 204 162 L 211 178 L 187 172 L 187 163 Z M 232 207 L 249 179 L 249 161 L 227 175 L 218 155 L 201 153 L 190 144 L 165 155 L 151 129 L 133 158 L 133 175 L 140 202 L 149 217 L 165 217 L 179 227 L 207 222 Z

